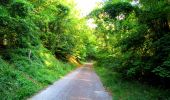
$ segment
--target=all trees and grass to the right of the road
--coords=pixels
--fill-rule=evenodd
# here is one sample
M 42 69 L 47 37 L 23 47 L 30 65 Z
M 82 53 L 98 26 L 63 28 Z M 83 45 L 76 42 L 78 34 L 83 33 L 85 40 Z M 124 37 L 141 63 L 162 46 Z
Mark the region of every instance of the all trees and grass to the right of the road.
M 168 0 L 108 0 L 97 24 L 96 71 L 116 100 L 170 99 Z

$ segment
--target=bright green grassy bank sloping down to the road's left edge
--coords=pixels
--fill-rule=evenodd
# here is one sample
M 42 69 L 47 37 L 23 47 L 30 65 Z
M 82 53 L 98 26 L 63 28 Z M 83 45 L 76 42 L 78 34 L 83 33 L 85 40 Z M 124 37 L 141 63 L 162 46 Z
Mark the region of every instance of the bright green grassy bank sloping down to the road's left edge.
M 0 57 L 1 100 L 26 99 L 75 68 L 57 60 L 45 48 L 16 49 Z

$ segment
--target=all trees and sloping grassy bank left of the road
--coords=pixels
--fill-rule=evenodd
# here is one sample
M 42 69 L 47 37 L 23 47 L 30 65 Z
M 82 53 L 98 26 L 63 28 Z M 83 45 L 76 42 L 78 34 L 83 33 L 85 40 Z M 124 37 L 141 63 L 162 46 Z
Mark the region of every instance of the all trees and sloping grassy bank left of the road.
M 72 1 L 0 0 L 0 98 L 26 99 L 75 69 L 90 31 Z

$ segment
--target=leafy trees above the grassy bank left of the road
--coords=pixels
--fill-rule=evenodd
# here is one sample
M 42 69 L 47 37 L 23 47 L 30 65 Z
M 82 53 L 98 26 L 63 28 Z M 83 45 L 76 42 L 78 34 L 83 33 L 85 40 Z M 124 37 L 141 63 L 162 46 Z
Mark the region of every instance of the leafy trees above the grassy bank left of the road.
M 77 18 L 73 6 L 66 1 L 16 0 L 1 9 L 0 44 L 5 48 L 30 48 L 42 43 L 63 60 L 68 55 L 85 58 L 86 50 L 80 48 L 88 43 L 84 38 L 91 30 L 87 30 L 85 19 Z

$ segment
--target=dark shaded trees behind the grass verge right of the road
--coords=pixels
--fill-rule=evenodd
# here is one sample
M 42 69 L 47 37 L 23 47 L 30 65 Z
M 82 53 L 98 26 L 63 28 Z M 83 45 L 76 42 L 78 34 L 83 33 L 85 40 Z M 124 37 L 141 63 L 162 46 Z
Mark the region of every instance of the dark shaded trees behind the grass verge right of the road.
M 126 78 L 168 84 L 168 3 L 146 1 L 131 5 L 110 0 L 91 13 L 101 41 L 97 59 L 99 64 L 112 67 Z

